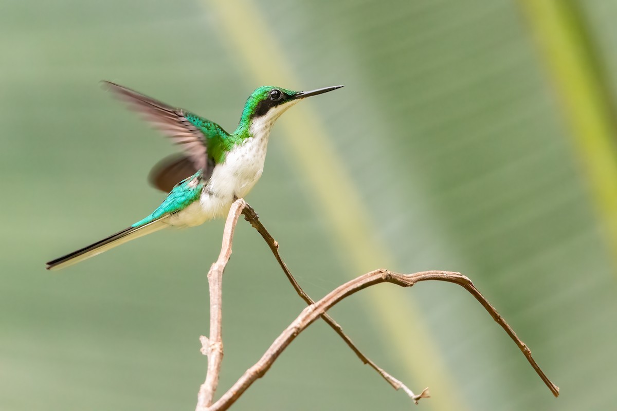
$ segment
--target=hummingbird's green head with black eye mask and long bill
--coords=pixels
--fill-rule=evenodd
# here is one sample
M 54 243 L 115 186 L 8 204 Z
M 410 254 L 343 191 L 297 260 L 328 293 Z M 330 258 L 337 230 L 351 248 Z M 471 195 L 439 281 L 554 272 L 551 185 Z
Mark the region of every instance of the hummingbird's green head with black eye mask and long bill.
M 238 129 L 248 130 L 252 123 L 259 120 L 270 127 L 274 121 L 289 107 L 304 99 L 333 91 L 342 86 L 324 87 L 312 91 L 293 91 L 276 86 L 262 86 L 255 89 L 246 100 Z

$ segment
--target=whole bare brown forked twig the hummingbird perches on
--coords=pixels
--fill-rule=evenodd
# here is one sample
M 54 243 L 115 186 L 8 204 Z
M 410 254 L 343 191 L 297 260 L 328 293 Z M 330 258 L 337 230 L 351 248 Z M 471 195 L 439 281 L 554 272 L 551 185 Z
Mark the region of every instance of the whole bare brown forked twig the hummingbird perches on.
M 336 303 L 341 301 L 342 299 L 350 296 L 357 291 L 362 290 L 363 288 L 370 287 L 371 285 L 376 285 L 378 283 L 389 282 L 394 283 L 396 285 L 400 285 L 401 287 L 411 287 L 415 285 L 415 283 L 427 280 L 438 280 L 445 282 L 456 283 L 465 290 L 469 291 L 471 295 L 476 298 L 480 304 L 486 309 L 489 314 L 493 317 L 493 319 L 505 330 L 505 332 L 510 336 L 510 338 L 515 341 L 518 348 L 521 349 L 524 356 L 528 359 L 529 364 L 536 370 L 536 373 L 542 378 L 542 381 L 549 387 L 552 391 L 553 395 L 557 397 L 559 395 L 559 388 L 554 385 L 549 378 L 542 372 L 540 367 L 536 364 L 536 361 L 531 356 L 531 351 L 523 343 L 523 341 L 516 336 L 516 333 L 512 330 L 510 325 L 503 320 L 503 317 L 499 315 L 499 313 L 495 310 L 495 308 L 487 301 L 484 296 L 474 287 L 473 283 L 470 279 L 465 277 L 458 272 L 449 272 L 449 271 L 424 271 L 418 272 L 415 274 L 398 274 L 395 272 L 387 271 L 385 269 L 379 269 L 376 271 L 368 272 L 360 277 L 357 277 L 354 280 L 351 280 L 343 285 L 337 287 L 335 290 L 331 291 L 324 298 L 317 301 L 317 303 L 312 303 L 312 299 L 304 291 L 297 285 L 297 282 L 291 276 L 289 269 L 287 269 L 284 262 L 281 260 L 278 255 L 278 244 L 276 241 L 268 234 L 267 230 L 262 226 L 262 224 L 257 219 L 257 214 L 254 210 L 250 209 L 246 213 L 247 203 L 240 199 L 234 201 L 231 206 L 230 213 L 228 215 L 227 221 L 225 223 L 225 232 L 223 234 L 223 245 L 221 249 L 221 253 L 217 259 L 217 262 L 212 264 L 210 267 L 210 271 L 208 272 L 208 280 L 210 285 L 210 339 L 202 337 L 202 352 L 204 352 L 208 356 L 208 373 L 206 376 L 205 383 L 202 384 L 199 389 L 199 394 L 197 398 L 197 411 L 215 411 L 215 410 L 226 410 L 231 404 L 233 404 L 241 395 L 246 391 L 249 386 L 254 383 L 257 378 L 263 376 L 268 369 L 271 367 L 273 362 L 278 358 L 278 356 L 283 352 L 283 350 L 291 343 L 291 341 L 296 338 L 296 336 L 305 330 L 312 322 L 314 322 L 318 317 L 322 317 L 326 322 L 328 319 L 330 322 L 328 324 L 334 328 L 334 330 L 343 337 L 346 343 L 350 346 L 350 348 L 354 349 L 354 352 L 363 359 L 366 359 L 365 356 L 362 355 L 357 348 L 355 348 L 354 344 L 349 340 L 340 327 L 340 325 L 336 324 L 336 322 L 331 319 L 326 314 L 326 311 L 333 307 Z M 287 327 L 283 333 L 281 333 L 278 338 L 271 344 L 270 348 L 263 354 L 262 358 L 255 363 L 251 368 L 249 368 L 238 381 L 225 393 L 223 396 L 218 399 L 214 404 L 212 404 L 212 400 L 214 397 L 214 393 L 216 391 L 218 385 L 218 374 L 220 372 L 221 361 L 223 358 L 223 343 L 221 338 L 221 301 L 222 301 L 222 275 L 225 270 L 225 266 L 229 261 L 231 256 L 231 242 L 233 240 L 233 233 L 238 222 L 239 215 L 244 213 L 247 218 L 247 221 L 251 222 L 252 226 L 257 229 L 260 234 L 262 234 L 263 238 L 270 245 L 271 250 L 275 253 L 275 257 L 281 267 L 283 267 L 283 271 L 285 271 L 286 275 L 288 275 L 289 280 L 298 291 L 299 295 L 302 296 L 309 306 L 307 306 L 300 315 Z M 332 323 L 332 324 L 331 324 Z M 349 341 L 349 342 L 348 342 Z M 381 368 L 377 367 L 374 363 L 370 362 L 370 360 L 366 359 L 367 364 L 371 364 L 373 368 L 376 370 L 381 370 Z M 383 370 L 381 370 L 380 374 L 384 375 Z M 389 376 L 389 375 L 388 375 Z M 386 377 L 386 380 L 392 384 L 392 382 Z M 392 376 L 389 376 L 392 380 L 395 380 Z M 399 388 L 407 388 L 400 381 L 397 381 L 399 384 Z M 395 388 L 397 388 L 394 384 L 392 384 Z M 406 389 L 405 391 L 407 391 Z M 428 391 L 425 389 L 422 393 L 418 395 L 414 395 L 409 392 L 410 396 L 413 397 L 415 402 L 417 403 L 418 399 L 422 397 L 428 396 Z

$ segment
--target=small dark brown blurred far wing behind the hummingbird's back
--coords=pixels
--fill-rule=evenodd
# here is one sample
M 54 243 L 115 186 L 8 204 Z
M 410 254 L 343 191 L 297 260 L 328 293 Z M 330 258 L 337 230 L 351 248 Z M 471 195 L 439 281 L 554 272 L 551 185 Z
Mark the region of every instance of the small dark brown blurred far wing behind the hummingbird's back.
M 209 159 L 206 161 L 205 167 L 202 168 L 202 179 L 208 181 L 212 176 L 214 169 L 214 161 Z M 186 155 L 176 153 L 160 160 L 148 174 L 148 182 L 163 192 L 170 192 L 173 186 L 178 182 L 193 176 L 197 172 L 191 158 Z

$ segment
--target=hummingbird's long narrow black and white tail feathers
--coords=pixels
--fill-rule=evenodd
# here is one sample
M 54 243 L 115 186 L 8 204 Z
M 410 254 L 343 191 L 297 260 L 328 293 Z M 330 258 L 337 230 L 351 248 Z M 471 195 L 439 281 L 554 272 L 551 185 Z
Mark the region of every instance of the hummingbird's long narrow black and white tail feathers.
M 73 251 L 70 254 L 62 256 L 60 258 L 56 258 L 52 261 L 47 262 L 48 270 L 59 270 L 64 267 L 71 266 L 72 264 L 76 264 L 77 262 L 83 261 L 90 257 L 94 257 L 97 254 L 104 253 L 115 246 L 120 244 L 124 244 L 135 238 L 142 237 L 143 235 L 150 234 L 152 232 L 158 231 L 160 229 L 164 229 L 167 227 L 167 224 L 163 222 L 164 218 L 157 219 L 155 221 L 149 222 L 148 224 L 144 224 L 139 227 L 128 227 L 116 234 L 112 234 L 107 238 L 103 238 L 101 241 L 97 241 L 94 244 L 88 245 L 84 248 L 80 248 L 80 250 Z

